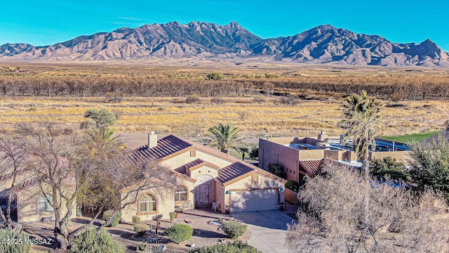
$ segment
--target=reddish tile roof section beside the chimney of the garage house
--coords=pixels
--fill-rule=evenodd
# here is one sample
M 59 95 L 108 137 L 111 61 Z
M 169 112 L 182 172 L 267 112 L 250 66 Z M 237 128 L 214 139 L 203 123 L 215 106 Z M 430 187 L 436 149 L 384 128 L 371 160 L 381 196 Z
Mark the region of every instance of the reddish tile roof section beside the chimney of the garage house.
M 170 135 L 158 140 L 156 147 L 148 148 L 148 145 L 144 145 L 135 149 L 128 159 L 133 163 L 158 160 L 191 146 L 191 143 L 187 143 L 177 136 Z

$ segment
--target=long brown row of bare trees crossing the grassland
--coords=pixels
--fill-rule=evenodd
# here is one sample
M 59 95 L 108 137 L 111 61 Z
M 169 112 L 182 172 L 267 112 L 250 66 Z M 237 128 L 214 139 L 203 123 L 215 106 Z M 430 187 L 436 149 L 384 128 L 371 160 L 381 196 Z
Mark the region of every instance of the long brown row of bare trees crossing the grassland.
M 298 77 L 295 79 L 113 79 L 107 77 L 4 77 L 4 96 L 245 96 L 255 93 L 297 95 L 304 91 L 358 93 L 394 100 L 445 99 L 445 77 Z

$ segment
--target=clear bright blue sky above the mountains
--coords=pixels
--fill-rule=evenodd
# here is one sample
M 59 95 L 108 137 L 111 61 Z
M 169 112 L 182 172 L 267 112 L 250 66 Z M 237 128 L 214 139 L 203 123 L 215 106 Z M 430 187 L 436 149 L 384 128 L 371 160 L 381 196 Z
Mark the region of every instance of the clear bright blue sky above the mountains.
M 262 37 L 298 34 L 330 24 L 393 42 L 431 39 L 449 51 L 449 1 L 31 1 L 0 9 L 0 45 L 55 44 L 119 27 L 178 21 L 239 22 Z

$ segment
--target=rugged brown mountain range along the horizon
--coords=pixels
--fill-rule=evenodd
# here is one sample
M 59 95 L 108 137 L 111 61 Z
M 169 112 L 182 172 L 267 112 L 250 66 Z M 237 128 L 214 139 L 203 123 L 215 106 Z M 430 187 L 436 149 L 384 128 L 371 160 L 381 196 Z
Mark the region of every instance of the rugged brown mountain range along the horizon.
M 123 27 L 80 36 L 51 46 L 4 44 L 0 60 L 152 60 L 220 58 L 332 63 L 343 65 L 449 67 L 448 53 L 427 39 L 393 43 L 378 35 L 356 34 L 320 25 L 289 37 L 262 39 L 237 22 L 179 22 Z

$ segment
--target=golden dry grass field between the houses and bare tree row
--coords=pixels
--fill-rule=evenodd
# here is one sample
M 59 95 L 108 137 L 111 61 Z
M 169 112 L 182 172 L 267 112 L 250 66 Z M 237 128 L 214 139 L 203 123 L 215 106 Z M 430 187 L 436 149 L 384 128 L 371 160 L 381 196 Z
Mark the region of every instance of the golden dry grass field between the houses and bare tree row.
M 0 122 L 4 131 L 21 122 L 46 119 L 78 126 L 90 108 L 107 108 L 119 115 L 114 126 L 119 132 L 149 132 L 199 136 L 218 122 L 232 122 L 248 136 L 315 136 L 319 131 L 342 134 L 337 128 L 342 100 L 298 100 L 297 105 L 281 105 L 276 96 L 226 97 L 224 103 L 200 98 L 186 103 L 186 98 L 125 98 L 121 103 L 105 103 L 104 98 L 72 97 L 1 97 Z M 415 134 L 443 127 L 449 115 L 449 103 L 441 101 L 405 101 L 401 107 L 382 110 L 384 135 Z

